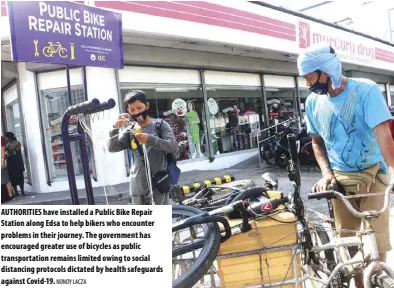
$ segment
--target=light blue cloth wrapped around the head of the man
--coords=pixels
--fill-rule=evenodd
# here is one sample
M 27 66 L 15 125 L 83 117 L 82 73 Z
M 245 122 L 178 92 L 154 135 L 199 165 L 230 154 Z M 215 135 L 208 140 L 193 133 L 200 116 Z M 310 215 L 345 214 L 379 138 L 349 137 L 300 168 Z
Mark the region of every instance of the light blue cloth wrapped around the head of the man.
M 330 53 L 330 46 L 327 44 L 311 46 L 301 53 L 297 66 L 300 76 L 320 70 L 330 76 L 333 89 L 341 87 L 341 61 L 336 54 Z

